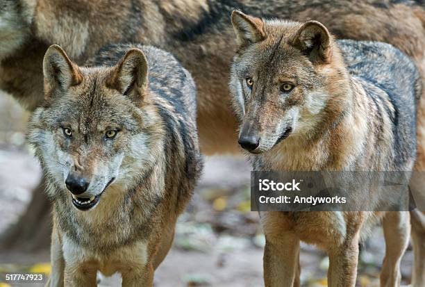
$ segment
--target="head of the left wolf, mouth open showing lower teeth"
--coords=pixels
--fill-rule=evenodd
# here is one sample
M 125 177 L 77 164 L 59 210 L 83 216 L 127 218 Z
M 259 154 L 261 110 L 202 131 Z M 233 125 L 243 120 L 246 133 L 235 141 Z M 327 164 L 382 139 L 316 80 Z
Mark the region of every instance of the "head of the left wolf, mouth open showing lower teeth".
M 128 188 L 154 161 L 147 60 L 131 49 L 114 67 L 78 67 L 53 45 L 43 72 L 45 104 L 31 118 L 28 139 L 53 185 L 49 196 L 72 197 L 87 210 L 108 186 Z

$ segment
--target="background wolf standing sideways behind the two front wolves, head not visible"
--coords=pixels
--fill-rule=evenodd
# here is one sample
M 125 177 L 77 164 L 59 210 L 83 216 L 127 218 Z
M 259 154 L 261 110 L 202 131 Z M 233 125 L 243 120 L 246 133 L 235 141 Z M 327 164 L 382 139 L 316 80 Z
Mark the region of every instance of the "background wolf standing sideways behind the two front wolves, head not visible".
M 49 45 L 59 44 L 83 64 L 105 44 L 151 44 L 171 52 L 194 76 L 203 153 L 239 153 L 226 85 L 236 48 L 226 15 L 235 8 L 258 17 L 315 19 L 338 38 L 388 42 L 411 56 L 425 77 L 421 1 L 0 0 L 0 88 L 33 110 L 42 100 Z

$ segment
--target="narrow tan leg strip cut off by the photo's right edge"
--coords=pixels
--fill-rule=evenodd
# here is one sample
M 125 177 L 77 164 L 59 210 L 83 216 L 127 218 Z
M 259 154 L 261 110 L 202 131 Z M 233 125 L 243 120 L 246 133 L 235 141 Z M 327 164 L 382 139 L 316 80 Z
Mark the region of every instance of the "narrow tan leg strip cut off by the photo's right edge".
M 425 214 L 417 209 L 410 211 L 412 243 L 415 254 L 412 287 L 425 286 Z

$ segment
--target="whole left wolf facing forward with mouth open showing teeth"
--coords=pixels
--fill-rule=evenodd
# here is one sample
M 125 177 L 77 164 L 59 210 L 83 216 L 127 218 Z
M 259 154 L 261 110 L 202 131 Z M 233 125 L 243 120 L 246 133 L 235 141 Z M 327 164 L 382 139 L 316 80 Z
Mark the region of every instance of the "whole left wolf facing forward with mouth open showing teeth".
M 169 53 L 108 45 L 79 67 L 57 45 L 28 124 L 53 202 L 49 286 L 152 286 L 201 172 L 192 77 Z

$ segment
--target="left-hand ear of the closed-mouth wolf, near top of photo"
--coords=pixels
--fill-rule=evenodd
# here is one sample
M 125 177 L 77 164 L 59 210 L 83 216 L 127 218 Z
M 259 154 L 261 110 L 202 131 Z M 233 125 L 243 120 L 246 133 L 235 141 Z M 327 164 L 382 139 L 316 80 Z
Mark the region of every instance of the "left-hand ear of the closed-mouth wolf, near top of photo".
M 233 10 L 231 19 L 240 46 L 260 42 L 266 38 L 262 19 L 245 15 L 239 10 Z

